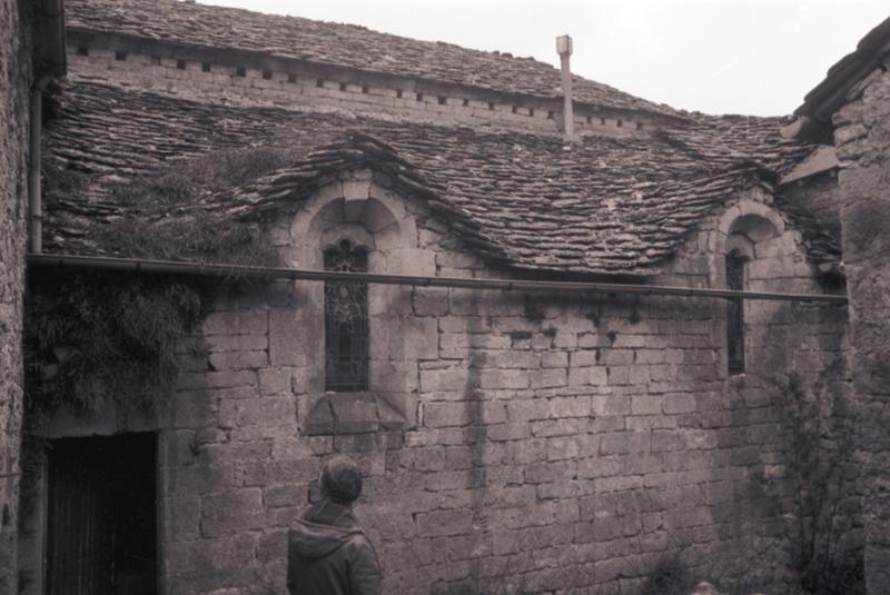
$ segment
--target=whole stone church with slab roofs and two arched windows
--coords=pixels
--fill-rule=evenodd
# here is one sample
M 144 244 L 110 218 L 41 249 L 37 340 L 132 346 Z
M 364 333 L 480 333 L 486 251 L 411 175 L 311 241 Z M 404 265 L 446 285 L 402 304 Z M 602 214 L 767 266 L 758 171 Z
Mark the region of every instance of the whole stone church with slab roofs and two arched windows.
M 281 592 L 334 453 L 387 593 L 626 592 L 674 555 L 787 578 L 789 387 L 854 400 L 821 138 L 580 77 L 566 116 L 547 65 L 359 27 L 172 0 L 66 21 L 22 593 Z M 53 318 L 97 291 L 127 337 L 200 300 L 151 368 L 175 384 L 139 376 L 166 343 L 127 359 Z

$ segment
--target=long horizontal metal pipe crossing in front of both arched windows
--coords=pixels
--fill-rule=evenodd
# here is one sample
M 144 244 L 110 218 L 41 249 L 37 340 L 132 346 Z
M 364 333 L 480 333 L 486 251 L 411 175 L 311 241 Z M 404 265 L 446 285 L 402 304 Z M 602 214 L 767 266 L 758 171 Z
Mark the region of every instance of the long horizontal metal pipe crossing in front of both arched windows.
M 164 275 L 190 275 L 201 277 L 230 278 L 277 278 L 306 281 L 364 281 L 380 285 L 407 285 L 414 287 L 453 287 L 464 289 L 497 289 L 503 291 L 551 291 L 572 294 L 630 294 L 637 296 L 678 296 L 729 299 L 769 299 L 782 301 L 821 301 L 847 304 L 847 296 L 821 294 L 774 294 L 767 291 L 733 291 L 730 289 L 708 289 L 672 287 L 659 285 L 635 285 L 615 282 L 582 281 L 526 281 L 503 279 L 466 279 L 459 277 L 414 277 L 407 275 L 375 275 L 373 272 L 340 272 L 333 270 L 305 270 L 279 267 L 253 267 L 241 265 L 217 265 L 198 262 L 176 262 L 171 260 L 142 260 L 135 258 L 110 258 L 98 256 L 62 256 L 28 254 L 28 265 L 36 268 L 83 268 L 150 272 Z

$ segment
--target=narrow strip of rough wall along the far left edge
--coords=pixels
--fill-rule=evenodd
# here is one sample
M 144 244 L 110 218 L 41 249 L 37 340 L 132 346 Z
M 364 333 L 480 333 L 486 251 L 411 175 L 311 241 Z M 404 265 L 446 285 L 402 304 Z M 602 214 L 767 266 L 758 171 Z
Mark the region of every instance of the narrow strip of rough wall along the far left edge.
M 17 591 L 28 89 L 16 0 L 0 1 L 0 592 Z

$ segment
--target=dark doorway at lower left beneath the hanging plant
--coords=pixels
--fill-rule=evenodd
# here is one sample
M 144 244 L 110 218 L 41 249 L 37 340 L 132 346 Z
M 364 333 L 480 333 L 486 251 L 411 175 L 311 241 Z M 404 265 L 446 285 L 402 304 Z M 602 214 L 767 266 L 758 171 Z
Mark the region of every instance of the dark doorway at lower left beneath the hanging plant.
M 155 434 L 53 440 L 48 595 L 155 595 Z

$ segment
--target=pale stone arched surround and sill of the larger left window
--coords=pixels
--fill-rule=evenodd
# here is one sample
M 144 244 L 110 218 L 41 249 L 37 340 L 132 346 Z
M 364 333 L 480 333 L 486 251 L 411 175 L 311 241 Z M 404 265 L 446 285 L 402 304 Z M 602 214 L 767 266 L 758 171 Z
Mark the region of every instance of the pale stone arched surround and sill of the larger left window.
M 377 185 L 373 176 L 367 170 L 342 172 L 281 221 L 286 229 L 280 231 L 288 241 L 280 249 L 290 266 L 324 269 L 325 251 L 346 240 L 365 251 L 369 272 L 435 274 L 435 254 L 417 246 L 407 199 Z M 330 390 L 323 348 L 325 285 L 295 282 L 296 309 L 276 311 L 278 320 L 270 324 L 273 335 L 301 337 L 281 341 L 294 349 L 295 355 L 286 357 L 296 361 L 304 376 L 298 395 L 300 430 L 330 435 L 414 427 L 417 360 L 438 355 L 435 320 L 408 316 L 411 288 L 366 286 L 367 384 L 364 389 Z M 274 344 L 270 340 L 270 348 Z

